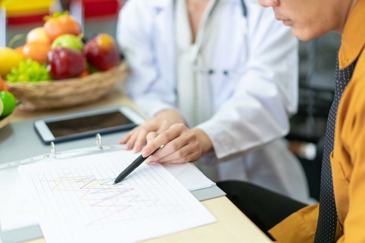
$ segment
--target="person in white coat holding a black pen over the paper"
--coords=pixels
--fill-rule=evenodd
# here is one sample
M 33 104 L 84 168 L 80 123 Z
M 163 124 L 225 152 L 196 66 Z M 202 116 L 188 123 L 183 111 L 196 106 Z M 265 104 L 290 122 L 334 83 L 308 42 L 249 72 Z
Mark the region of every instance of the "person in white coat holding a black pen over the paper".
M 297 40 L 256 0 L 128 0 L 117 39 L 127 93 L 150 117 L 120 139 L 147 162 L 199 159 L 211 179 L 305 201 L 283 136 L 297 108 Z M 285 43 L 284 45 L 282 43 Z

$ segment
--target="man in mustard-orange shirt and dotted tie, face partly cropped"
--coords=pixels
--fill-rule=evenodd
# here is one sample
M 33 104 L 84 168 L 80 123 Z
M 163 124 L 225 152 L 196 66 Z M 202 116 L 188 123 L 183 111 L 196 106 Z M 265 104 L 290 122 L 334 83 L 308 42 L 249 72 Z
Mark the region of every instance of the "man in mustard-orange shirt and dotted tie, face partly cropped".
M 271 6 L 276 19 L 301 40 L 331 30 L 342 34 L 320 199 L 304 206 L 248 183 L 218 186 L 279 242 L 365 242 L 365 0 L 258 1 Z

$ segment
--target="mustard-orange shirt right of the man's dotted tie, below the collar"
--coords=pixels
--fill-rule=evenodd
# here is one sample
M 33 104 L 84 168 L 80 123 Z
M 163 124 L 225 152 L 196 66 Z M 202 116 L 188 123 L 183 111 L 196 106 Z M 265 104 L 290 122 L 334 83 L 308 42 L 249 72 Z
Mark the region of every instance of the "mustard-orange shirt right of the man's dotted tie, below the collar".
M 362 58 L 361 58 L 362 57 Z M 333 186 L 338 218 L 342 219 L 343 235 L 337 242 L 365 241 L 365 55 L 359 57 L 352 80 L 341 97 L 334 150 L 331 154 Z M 348 186 L 348 189 L 345 189 Z M 338 188 L 338 189 L 337 189 Z M 346 207 L 348 207 L 347 214 Z

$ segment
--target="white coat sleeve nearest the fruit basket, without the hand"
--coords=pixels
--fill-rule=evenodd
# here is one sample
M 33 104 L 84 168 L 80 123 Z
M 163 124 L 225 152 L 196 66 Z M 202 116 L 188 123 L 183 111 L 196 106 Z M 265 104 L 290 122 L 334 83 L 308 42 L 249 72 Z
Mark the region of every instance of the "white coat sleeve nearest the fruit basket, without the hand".
M 127 94 L 148 117 L 175 103 L 174 87 L 162 77 L 153 50 L 154 14 L 147 1 L 127 1 L 117 24 L 117 41 L 129 66 Z

